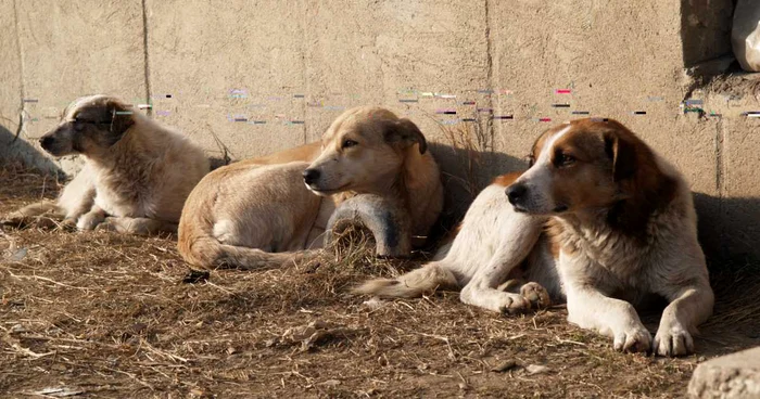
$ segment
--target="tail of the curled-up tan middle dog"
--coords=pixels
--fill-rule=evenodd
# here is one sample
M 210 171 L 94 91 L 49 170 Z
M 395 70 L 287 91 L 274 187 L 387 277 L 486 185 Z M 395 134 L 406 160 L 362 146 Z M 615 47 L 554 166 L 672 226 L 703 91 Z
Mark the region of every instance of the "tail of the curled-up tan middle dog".
M 269 269 L 307 259 L 315 252 L 267 253 L 262 249 L 221 244 L 214 237 L 179 240 L 179 253 L 188 263 L 205 269 Z

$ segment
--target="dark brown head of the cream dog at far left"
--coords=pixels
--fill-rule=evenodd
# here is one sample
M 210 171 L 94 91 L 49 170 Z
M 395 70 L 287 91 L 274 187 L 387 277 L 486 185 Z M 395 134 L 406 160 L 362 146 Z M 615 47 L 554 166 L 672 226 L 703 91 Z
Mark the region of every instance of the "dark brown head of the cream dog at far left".
M 72 102 L 59 126 L 39 142 L 54 156 L 92 155 L 121 140 L 134 124 L 130 105 L 107 95 L 89 95 Z

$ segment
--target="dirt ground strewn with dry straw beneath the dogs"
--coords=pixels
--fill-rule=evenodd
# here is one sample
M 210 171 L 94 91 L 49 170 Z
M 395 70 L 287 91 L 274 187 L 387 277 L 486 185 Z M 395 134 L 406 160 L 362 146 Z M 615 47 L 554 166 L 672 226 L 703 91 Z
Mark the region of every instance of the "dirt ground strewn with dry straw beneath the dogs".
M 0 215 L 58 190 L 0 169 Z M 757 265 L 710 266 L 698 355 L 663 359 L 613 351 L 562 307 L 502 317 L 455 293 L 366 305 L 346 288 L 418 262 L 343 255 L 192 282 L 172 237 L 5 228 L 0 396 L 674 398 L 699 362 L 760 345 Z

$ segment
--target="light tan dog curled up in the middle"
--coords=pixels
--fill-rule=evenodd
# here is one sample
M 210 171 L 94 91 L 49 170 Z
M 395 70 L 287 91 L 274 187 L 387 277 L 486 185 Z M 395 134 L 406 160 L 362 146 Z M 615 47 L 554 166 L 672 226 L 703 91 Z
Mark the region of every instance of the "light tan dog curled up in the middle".
M 281 164 L 288 160 L 296 162 Z M 182 210 L 179 252 L 206 268 L 279 266 L 299 258 L 292 252 L 320 246 L 335 206 L 356 194 L 396 201 L 413 234 L 427 234 L 441 213 L 443 188 L 414 123 L 357 107 L 332 123 L 321 144 L 214 170 Z

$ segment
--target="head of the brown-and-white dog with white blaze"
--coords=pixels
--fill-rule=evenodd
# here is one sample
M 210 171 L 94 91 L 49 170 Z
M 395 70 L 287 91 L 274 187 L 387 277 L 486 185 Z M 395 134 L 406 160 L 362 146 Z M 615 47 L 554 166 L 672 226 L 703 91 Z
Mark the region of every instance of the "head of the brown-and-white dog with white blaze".
M 664 178 L 651 150 L 628 128 L 586 118 L 541 134 L 530 168 L 506 194 L 518 211 L 571 214 L 656 197 Z

